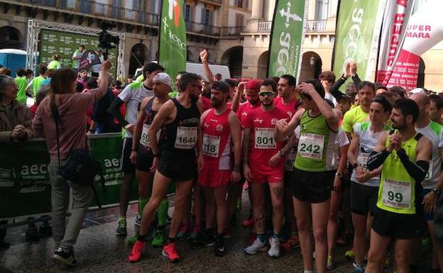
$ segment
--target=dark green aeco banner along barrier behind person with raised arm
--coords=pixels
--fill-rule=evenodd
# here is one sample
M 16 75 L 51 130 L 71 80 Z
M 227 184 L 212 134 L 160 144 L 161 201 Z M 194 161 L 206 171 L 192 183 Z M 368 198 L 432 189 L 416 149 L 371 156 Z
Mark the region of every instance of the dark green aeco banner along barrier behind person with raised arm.
M 106 192 L 96 177 L 96 189 L 102 206 L 119 204 L 121 134 L 93 135 L 92 156 L 102 162 Z M 50 213 L 51 186 L 49 154 L 43 139 L 28 143 L 0 144 L 0 218 L 15 218 Z M 133 182 L 130 200 L 138 199 L 138 185 Z M 91 207 L 97 206 L 92 199 Z

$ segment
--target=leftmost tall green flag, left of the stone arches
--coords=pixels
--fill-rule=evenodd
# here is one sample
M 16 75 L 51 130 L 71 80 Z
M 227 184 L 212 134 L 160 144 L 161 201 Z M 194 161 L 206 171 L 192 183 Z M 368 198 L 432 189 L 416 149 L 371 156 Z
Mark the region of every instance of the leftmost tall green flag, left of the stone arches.
M 175 79 L 178 72 L 186 70 L 186 26 L 183 0 L 163 0 L 160 15 L 158 63 Z

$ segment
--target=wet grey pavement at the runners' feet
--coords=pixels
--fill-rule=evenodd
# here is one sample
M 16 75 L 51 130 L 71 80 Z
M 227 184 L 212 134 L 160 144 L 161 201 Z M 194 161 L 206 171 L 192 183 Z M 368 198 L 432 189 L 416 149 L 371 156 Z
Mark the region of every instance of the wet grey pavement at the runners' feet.
M 244 194 L 243 208 L 238 218 L 243 219 L 249 211 L 247 194 Z M 171 202 L 173 204 L 173 202 Z M 170 206 L 171 206 L 170 204 Z M 128 210 L 128 235 L 133 235 L 133 222 L 137 213 L 137 205 Z M 170 208 L 170 215 L 172 208 Z M 214 257 L 212 247 L 194 250 L 186 240 L 177 242 L 177 251 L 182 261 L 173 264 L 161 255 L 161 248 L 147 247 L 143 260 L 136 264 L 128 262 L 131 245 L 127 238 L 115 235 L 118 220 L 118 208 L 106 208 L 88 213 L 84 228 L 75 245 L 77 267 L 66 268 L 55 264 L 52 238 L 40 238 L 35 243 L 24 242 L 25 226 L 10 228 L 6 240 L 11 243 L 9 250 L 0 251 L 0 273 L 3 272 L 303 272 L 300 249 L 283 252 L 279 259 L 268 257 L 267 252 L 257 255 L 244 255 L 246 240 L 249 235 L 247 228 L 240 223 L 233 230 L 232 238 L 226 240 L 226 255 Z M 337 267 L 333 272 L 352 270 L 352 262 L 344 257 L 344 247 L 337 247 Z M 420 257 L 429 257 L 429 250 Z M 428 258 L 429 259 L 429 258 Z M 424 259 L 423 259 L 424 260 Z M 426 264 L 422 266 L 426 267 Z M 385 272 L 391 272 L 386 269 Z M 420 270 L 427 272 L 427 270 Z

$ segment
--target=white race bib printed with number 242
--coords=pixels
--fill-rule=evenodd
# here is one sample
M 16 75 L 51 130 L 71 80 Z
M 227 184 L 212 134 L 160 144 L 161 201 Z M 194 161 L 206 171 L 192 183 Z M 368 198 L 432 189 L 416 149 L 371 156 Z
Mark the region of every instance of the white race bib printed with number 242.
M 312 160 L 322 160 L 324 149 L 324 135 L 302 133 L 298 141 L 297 150 L 301 157 Z

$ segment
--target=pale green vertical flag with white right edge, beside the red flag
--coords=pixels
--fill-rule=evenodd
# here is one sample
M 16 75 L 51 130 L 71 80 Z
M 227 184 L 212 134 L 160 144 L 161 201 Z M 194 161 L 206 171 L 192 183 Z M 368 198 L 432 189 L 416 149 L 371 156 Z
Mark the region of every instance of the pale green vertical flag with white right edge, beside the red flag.
M 337 78 L 349 61 L 362 80 L 372 80 L 387 0 L 341 0 L 337 13 L 332 70 Z

